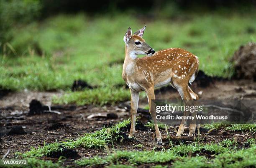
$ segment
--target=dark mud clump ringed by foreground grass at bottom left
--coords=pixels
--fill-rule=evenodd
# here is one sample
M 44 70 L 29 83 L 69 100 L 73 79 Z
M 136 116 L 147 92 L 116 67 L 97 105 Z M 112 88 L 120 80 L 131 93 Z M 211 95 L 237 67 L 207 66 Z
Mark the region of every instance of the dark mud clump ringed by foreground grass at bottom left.
M 65 157 L 67 159 L 77 159 L 77 158 L 80 158 L 80 156 L 77 153 L 77 151 L 74 151 L 74 150 L 68 149 L 68 148 L 62 148 L 59 151 L 54 151 L 54 152 L 51 152 L 51 153 L 46 155 L 46 157 L 50 157 L 50 158 L 59 158 L 61 156 Z

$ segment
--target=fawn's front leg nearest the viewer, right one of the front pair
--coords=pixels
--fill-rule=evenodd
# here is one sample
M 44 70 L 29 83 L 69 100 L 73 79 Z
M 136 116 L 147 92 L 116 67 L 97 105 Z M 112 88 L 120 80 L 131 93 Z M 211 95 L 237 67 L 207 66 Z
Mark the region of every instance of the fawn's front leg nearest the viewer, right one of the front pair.
M 148 96 L 148 104 L 149 104 L 149 112 L 151 114 L 151 117 L 154 121 L 155 124 L 155 130 L 156 130 L 156 143 L 157 145 L 162 145 L 162 136 L 161 133 L 159 131 L 158 125 L 157 125 L 157 121 L 156 121 L 156 109 L 155 108 L 151 108 L 151 100 L 155 99 L 155 92 L 154 92 L 154 87 L 146 89 L 146 94 Z

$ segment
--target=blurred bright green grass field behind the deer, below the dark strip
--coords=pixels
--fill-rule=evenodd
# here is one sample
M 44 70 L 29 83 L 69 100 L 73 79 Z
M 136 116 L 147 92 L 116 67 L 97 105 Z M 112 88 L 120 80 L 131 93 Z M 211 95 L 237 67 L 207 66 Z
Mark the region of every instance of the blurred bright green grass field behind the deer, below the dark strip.
M 255 16 L 254 12 L 216 12 L 142 21 L 128 14 L 94 18 L 79 14 L 16 26 L 10 41 L 16 54 L 6 51 L 0 55 L 0 87 L 13 91 L 64 90 L 64 96 L 54 98 L 59 104 L 102 105 L 128 100 L 129 91 L 123 88 L 121 78 L 123 35 L 128 27 L 135 32 L 143 25 L 147 25 L 144 38 L 155 50 L 185 48 L 200 57 L 200 69 L 206 74 L 230 77 L 229 59 L 234 51 L 255 40 L 255 34 L 247 32 L 248 28 L 256 30 Z M 75 79 L 97 88 L 70 92 Z

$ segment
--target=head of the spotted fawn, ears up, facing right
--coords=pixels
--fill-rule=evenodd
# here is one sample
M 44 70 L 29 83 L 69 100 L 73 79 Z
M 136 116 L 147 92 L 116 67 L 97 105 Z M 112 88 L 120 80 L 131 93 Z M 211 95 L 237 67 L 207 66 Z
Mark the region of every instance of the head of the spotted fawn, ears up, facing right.
M 132 55 L 143 54 L 151 56 L 155 53 L 154 49 L 152 49 L 146 41 L 142 38 L 146 26 L 142 27 L 140 30 L 132 34 L 131 27 L 128 28 L 125 36 L 123 37 L 123 41 L 127 49 L 131 52 Z

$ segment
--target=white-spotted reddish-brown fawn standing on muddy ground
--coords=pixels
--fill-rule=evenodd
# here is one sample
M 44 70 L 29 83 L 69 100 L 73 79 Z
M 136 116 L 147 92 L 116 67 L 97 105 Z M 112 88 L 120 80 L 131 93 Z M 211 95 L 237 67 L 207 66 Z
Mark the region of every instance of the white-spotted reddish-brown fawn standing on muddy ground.
M 198 99 L 197 94 L 189 87 L 198 72 L 199 60 L 194 54 L 180 48 L 168 48 L 155 52 L 142 38 L 146 25 L 132 34 L 128 28 L 123 41 L 125 42 L 125 59 L 123 63 L 122 78 L 129 86 L 131 92 L 131 130 L 129 138 L 133 138 L 136 129 L 136 114 L 138 109 L 139 92 L 145 91 L 149 107 L 151 100 L 155 99 L 154 88 L 171 84 L 177 89 L 183 100 Z M 138 58 L 137 55 L 146 55 Z M 162 145 L 162 136 L 156 121 L 156 111 L 149 108 L 154 121 L 156 144 Z M 184 116 L 188 112 L 184 111 Z M 182 120 L 176 136 L 184 133 L 186 120 Z M 190 124 L 188 136 L 193 136 L 196 125 Z

